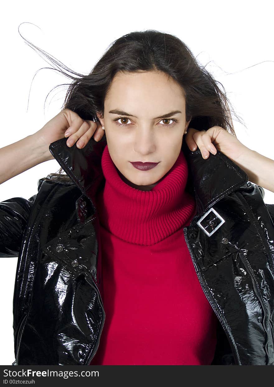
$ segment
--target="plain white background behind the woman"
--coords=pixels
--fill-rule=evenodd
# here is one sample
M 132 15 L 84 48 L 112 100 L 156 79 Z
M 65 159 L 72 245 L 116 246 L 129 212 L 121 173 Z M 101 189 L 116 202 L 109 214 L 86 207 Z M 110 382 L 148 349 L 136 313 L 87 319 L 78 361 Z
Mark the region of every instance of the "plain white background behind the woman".
M 271 6 L 265 0 L 4 2 L 0 16 L 0 147 L 33 134 L 57 115 L 66 89 L 51 92 L 44 110 L 46 96 L 58 84 L 70 82 L 48 69 L 40 70 L 34 77 L 39 68 L 50 65 L 19 35 L 19 24 L 30 22 L 37 27 L 22 24 L 22 36 L 82 74 L 88 74 L 110 43 L 125 33 L 156 29 L 178 36 L 200 63 L 210 62 L 207 70 L 223 84 L 233 108 L 248 128 L 234 120 L 238 139 L 250 149 L 274 159 Z M 16 196 L 31 197 L 37 192 L 38 179 L 58 169 L 57 161 L 50 160 L 2 183 L 0 201 Z M 274 193 L 265 190 L 264 201 L 274 203 Z M 0 364 L 11 365 L 17 258 L 1 258 L 1 264 Z

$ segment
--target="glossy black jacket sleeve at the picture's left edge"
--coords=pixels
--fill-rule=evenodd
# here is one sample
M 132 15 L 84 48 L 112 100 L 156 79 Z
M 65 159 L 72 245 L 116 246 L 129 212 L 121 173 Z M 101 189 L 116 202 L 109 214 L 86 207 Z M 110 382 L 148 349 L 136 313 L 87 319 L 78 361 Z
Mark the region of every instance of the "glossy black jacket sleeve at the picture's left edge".
M 18 257 L 35 198 L 14 197 L 0 202 L 0 257 Z

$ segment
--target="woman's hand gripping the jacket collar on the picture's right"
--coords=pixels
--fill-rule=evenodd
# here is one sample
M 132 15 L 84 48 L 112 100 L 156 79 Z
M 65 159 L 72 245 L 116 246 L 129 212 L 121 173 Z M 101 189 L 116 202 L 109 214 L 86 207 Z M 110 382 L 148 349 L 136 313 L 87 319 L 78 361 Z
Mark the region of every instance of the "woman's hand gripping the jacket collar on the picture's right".
M 208 158 L 209 152 L 216 154 L 218 150 L 236 163 L 248 150 L 235 136 L 220 126 L 213 126 L 207 131 L 188 128 L 185 141 L 191 151 L 195 151 L 198 146 L 204 159 Z

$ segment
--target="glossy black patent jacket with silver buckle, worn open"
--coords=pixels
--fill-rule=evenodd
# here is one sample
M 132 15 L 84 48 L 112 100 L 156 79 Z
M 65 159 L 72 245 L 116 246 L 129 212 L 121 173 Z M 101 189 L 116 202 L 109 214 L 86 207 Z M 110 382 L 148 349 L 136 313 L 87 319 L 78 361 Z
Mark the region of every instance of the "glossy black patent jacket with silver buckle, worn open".
M 13 365 L 89 365 L 104 326 L 95 193 L 106 140 L 66 141 L 49 149 L 67 175 L 41 178 L 28 200 L 0 202 L 0 256 L 18 256 Z M 212 365 L 274 365 L 274 204 L 223 153 L 182 149 L 197 205 L 183 232 L 219 320 Z

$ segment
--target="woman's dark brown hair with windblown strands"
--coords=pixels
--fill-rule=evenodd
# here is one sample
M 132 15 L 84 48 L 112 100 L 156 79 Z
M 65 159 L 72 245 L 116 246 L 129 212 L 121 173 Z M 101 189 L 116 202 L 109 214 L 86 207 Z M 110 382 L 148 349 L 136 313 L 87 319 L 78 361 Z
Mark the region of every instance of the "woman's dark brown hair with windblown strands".
M 223 85 L 195 59 L 188 46 L 172 34 L 153 29 L 125 34 L 111 43 L 88 75 L 70 70 L 45 51 L 26 42 L 48 58 L 55 70 L 73 80 L 62 109 L 73 110 L 84 120 L 97 121 L 96 111 L 104 116 L 104 99 L 116 73 L 157 70 L 172 77 L 182 87 L 186 121 L 192 117 L 189 127 L 207 130 L 217 125 L 236 136 L 231 113 L 242 122 L 233 111 Z

